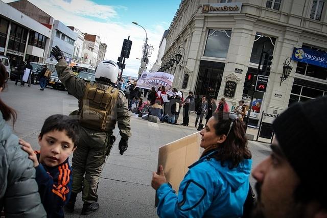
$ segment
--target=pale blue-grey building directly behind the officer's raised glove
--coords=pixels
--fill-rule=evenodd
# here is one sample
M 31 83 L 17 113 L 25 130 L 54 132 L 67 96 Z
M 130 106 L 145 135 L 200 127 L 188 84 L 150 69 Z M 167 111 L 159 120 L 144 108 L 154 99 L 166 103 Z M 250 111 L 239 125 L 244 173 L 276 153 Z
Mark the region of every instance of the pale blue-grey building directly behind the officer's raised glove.
M 77 40 L 78 34 L 73 30 L 68 28 L 59 20 L 54 20 L 52 35 L 50 39 L 50 48 L 53 46 L 60 47 L 60 50 L 65 55 L 67 63 L 72 62 L 73 52 L 74 52 L 74 43 Z M 50 52 L 48 56 L 50 57 Z

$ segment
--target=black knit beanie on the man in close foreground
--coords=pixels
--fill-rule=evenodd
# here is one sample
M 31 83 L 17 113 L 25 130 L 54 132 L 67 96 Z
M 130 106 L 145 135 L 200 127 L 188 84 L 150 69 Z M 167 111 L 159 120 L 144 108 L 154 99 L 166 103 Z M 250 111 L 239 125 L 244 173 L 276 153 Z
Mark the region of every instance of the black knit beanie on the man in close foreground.
M 297 103 L 278 116 L 273 125 L 279 146 L 299 176 L 301 186 L 311 192 L 309 200 L 325 201 L 327 98 Z

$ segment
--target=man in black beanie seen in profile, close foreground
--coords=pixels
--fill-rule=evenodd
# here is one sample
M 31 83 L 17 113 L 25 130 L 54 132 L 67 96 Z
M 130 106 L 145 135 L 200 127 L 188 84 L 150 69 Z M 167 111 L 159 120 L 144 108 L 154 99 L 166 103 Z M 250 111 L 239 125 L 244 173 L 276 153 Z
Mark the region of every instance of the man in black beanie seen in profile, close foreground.
M 272 153 L 252 171 L 252 217 L 327 217 L 327 98 L 297 103 L 274 120 Z

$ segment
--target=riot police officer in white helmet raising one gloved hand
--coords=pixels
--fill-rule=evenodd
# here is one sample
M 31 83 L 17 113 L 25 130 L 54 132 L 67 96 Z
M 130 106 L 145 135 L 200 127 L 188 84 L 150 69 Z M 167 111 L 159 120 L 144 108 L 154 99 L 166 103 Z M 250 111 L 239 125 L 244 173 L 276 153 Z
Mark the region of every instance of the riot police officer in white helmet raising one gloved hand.
M 84 136 L 74 152 L 72 196 L 65 209 L 74 211 L 77 193 L 82 191 L 82 214 L 87 215 L 99 209 L 97 188 L 102 166 L 113 144 L 111 135 L 116 122 L 121 135 L 120 154 L 127 150 L 131 136 L 128 103 L 124 92 L 114 87 L 119 75 L 115 62 L 101 61 L 96 67 L 96 82 L 91 82 L 75 77 L 58 46 L 52 48 L 51 54 L 58 61 L 59 79 L 79 100 L 77 117 Z

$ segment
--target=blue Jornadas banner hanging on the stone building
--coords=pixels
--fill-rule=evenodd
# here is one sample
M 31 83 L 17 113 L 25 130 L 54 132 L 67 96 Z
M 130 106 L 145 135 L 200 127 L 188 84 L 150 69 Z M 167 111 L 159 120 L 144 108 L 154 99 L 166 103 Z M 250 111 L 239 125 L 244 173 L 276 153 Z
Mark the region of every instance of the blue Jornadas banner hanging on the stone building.
M 306 47 L 299 49 L 294 47 L 292 60 L 327 68 L 327 53 L 311 50 Z

